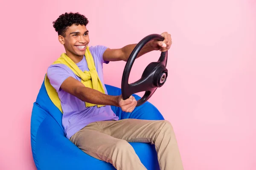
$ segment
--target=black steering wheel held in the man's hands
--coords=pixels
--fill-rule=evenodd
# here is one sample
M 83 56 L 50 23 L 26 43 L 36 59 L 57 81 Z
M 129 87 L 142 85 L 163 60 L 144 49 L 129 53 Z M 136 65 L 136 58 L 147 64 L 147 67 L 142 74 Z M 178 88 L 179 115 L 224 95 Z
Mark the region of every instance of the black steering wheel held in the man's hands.
M 128 79 L 130 76 L 132 65 L 137 58 L 140 50 L 151 40 L 163 41 L 164 37 L 159 34 L 150 34 L 143 38 L 131 52 L 128 61 L 126 62 L 125 69 L 122 75 L 122 98 L 128 99 L 132 94 L 145 91 L 144 96 L 137 101 L 137 106 L 145 103 L 154 94 L 157 88 L 160 88 L 165 82 L 168 75 L 166 69 L 168 51 L 161 52 L 160 58 L 157 62 L 151 62 L 143 71 L 139 80 L 129 84 Z M 136 106 L 136 107 L 137 107 Z

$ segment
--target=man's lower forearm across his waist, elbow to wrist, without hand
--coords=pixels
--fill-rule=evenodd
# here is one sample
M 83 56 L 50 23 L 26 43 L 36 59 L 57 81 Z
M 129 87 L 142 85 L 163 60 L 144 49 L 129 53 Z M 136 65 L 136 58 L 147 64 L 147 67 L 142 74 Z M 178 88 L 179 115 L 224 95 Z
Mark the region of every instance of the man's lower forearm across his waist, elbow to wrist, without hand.
M 119 96 L 111 96 L 103 94 L 100 91 L 87 87 L 79 87 L 76 89 L 76 96 L 83 102 L 88 102 L 96 105 L 112 105 L 119 106 Z

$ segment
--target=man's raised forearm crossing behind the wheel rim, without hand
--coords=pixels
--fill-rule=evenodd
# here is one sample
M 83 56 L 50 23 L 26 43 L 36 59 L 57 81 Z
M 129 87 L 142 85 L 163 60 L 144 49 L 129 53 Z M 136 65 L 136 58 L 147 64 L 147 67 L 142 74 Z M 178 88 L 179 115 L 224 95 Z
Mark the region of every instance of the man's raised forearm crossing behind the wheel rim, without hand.
M 123 60 L 124 61 L 128 60 L 128 58 L 130 57 L 131 52 L 133 51 L 133 49 L 135 48 L 136 45 L 137 44 L 130 44 L 130 45 L 126 45 L 123 48 L 121 48 L 122 51 L 123 51 Z M 153 51 L 153 50 L 154 50 L 154 48 L 152 48 L 149 44 L 146 44 L 141 49 L 141 51 L 139 52 L 139 54 L 137 55 L 136 58 L 138 58 L 138 57 L 140 57 L 140 56 L 142 56 L 142 55 L 144 55 L 144 54 L 146 54 L 146 53 L 148 53 L 150 51 Z

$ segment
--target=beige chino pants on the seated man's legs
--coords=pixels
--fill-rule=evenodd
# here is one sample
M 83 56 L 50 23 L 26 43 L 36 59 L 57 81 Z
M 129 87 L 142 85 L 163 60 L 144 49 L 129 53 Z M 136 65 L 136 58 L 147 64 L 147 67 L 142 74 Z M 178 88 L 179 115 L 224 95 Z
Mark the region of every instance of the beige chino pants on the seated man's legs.
M 166 120 L 93 122 L 70 141 L 88 155 L 110 162 L 117 170 L 146 170 L 128 142 L 155 144 L 161 170 L 183 170 L 174 130 Z

